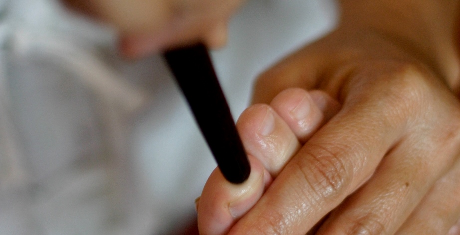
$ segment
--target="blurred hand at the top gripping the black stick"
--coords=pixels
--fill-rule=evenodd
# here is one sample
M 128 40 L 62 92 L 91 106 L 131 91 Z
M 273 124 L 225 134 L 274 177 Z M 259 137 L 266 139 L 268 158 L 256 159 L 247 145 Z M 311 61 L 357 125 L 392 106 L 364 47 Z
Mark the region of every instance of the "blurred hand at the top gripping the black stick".
M 125 55 L 139 57 L 170 47 L 225 44 L 227 22 L 243 0 L 62 0 L 67 6 L 113 25 Z

